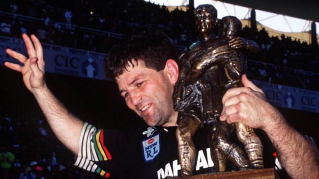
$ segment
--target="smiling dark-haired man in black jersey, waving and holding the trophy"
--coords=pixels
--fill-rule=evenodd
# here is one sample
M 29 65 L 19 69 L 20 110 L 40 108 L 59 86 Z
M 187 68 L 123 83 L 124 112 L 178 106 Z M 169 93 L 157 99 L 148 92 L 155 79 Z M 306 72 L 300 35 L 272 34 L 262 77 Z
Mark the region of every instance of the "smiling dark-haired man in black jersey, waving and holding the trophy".
M 44 80 L 45 64 L 39 40 L 34 35 L 31 35 L 32 41 L 26 34 L 22 37 L 29 58 L 7 49 L 6 52 L 24 66 L 9 62 L 5 62 L 5 66 L 22 73 L 26 87 L 39 103 L 58 139 L 78 155 L 75 165 L 110 178 L 177 175 L 180 169 L 174 160 L 177 159 L 177 112 L 173 109 L 172 94 L 178 78 L 178 65 L 167 36 L 141 33 L 109 53 L 106 61 L 108 77 L 115 78 L 127 106 L 151 126 L 147 130 L 132 128 L 128 131 L 97 130 L 67 111 Z M 221 119 L 263 129 L 292 178 L 319 178 L 319 157 L 314 145 L 291 128 L 266 102 L 260 88 L 246 76 L 242 82 L 244 87 L 232 88 L 225 94 Z M 211 158 L 203 158 L 203 152 L 198 153 L 201 165 L 197 165 L 202 172 L 212 166 Z M 203 162 L 204 159 L 207 162 Z

